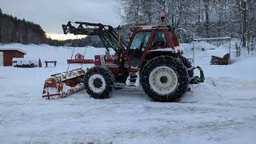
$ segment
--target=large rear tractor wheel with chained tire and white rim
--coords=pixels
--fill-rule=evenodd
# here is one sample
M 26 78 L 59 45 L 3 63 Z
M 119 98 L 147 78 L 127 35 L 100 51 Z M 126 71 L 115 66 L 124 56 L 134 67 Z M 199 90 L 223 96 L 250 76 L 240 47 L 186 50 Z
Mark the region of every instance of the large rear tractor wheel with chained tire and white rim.
M 178 58 L 158 56 L 142 70 L 142 87 L 156 102 L 178 102 L 189 86 L 186 66 Z

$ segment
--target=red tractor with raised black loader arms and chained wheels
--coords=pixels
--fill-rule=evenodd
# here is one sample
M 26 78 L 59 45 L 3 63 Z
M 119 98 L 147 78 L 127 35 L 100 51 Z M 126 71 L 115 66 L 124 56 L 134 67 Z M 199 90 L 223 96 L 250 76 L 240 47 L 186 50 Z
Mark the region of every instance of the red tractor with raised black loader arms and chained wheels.
M 178 102 L 190 84 L 204 82 L 202 69 L 182 56 L 170 26 L 132 26 L 126 45 L 120 27 L 114 30 L 100 23 L 75 24 L 78 26 L 71 22 L 62 25 L 64 34 L 98 35 L 107 51 L 115 51 L 112 55 L 95 55 L 94 67 L 83 76 L 82 82 L 92 98 L 110 98 L 122 86 L 142 86 L 156 102 Z M 194 77 L 195 69 L 200 70 L 200 78 Z

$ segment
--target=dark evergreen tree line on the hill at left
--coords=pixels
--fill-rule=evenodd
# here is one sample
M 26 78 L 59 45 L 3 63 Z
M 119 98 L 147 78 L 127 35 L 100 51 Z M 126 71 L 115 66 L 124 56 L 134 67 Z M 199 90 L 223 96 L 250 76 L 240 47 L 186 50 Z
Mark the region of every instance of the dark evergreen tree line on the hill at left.
M 49 44 L 50 46 L 95 46 L 102 47 L 99 38 L 88 36 L 82 39 L 68 39 L 65 41 L 46 38 L 46 32 L 34 22 L 18 19 L 9 14 L 3 14 L 0 8 L 0 43 Z

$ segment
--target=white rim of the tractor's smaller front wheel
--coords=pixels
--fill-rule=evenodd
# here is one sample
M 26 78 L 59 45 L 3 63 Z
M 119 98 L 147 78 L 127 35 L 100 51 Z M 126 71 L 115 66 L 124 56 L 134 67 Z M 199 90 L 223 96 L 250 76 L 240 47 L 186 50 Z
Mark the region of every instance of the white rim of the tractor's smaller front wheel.
M 88 86 L 96 94 L 102 94 L 106 90 L 106 81 L 100 74 L 94 74 L 89 78 Z

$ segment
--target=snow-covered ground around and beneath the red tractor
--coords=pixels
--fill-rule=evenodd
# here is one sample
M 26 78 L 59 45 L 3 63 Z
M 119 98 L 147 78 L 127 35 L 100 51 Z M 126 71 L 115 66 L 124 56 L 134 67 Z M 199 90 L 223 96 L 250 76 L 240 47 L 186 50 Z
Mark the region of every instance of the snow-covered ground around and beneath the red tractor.
M 43 100 L 44 80 L 66 70 L 72 49 L 6 47 L 11 46 L 26 50 L 30 58 L 58 60 L 58 66 L 0 67 L 1 143 L 256 142 L 256 58 L 232 58 L 230 66 L 209 65 L 210 55 L 226 53 L 226 46 L 210 50 L 210 44 L 196 45 L 206 48 L 196 51 L 196 64 L 204 69 L 206 82 L 178 103 L 151 102 L 142 90 L 116 90 L 106 100 L 89 98 L 85 90 L 65 99 Z M 192 58 L 191 46 L 182 46 Z M 86 57 L 94 54 L 104 50 L 90 47 Z

